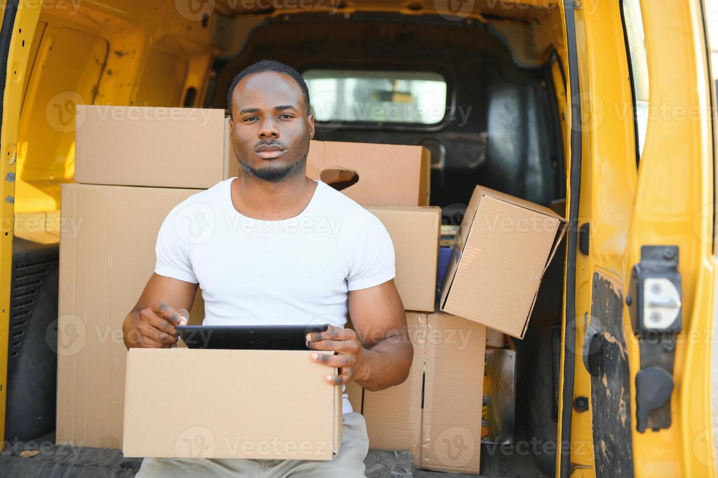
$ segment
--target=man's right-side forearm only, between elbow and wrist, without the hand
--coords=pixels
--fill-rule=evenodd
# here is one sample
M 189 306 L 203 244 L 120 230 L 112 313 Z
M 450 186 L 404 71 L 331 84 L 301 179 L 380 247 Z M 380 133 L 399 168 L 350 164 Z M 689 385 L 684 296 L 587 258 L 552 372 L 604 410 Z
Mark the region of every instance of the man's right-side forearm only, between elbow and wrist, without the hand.
M 354 380 L 366 390 L 375 392 L 406 380 L 414 347 L 408 336 L 398 335 L 388 337 L 371 349 L 363 349 L 362 355 Z

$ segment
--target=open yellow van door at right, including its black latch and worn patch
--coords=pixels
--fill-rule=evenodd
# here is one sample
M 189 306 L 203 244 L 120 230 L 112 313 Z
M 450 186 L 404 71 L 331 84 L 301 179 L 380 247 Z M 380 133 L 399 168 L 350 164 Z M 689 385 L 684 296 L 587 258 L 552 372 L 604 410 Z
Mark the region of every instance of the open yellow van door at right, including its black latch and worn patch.
M 715 476 L 715 98 L 704 5 L 563 8 L 573 117 L 556 474 Z

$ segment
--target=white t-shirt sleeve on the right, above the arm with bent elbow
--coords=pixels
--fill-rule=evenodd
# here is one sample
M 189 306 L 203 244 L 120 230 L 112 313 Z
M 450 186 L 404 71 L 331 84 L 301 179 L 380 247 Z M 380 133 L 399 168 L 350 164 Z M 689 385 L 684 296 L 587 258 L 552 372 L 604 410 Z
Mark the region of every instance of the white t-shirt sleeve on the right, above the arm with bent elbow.
M 348 290 L 374 287 L 396 275 L 394 245 L 386 227 L 370 214 L 352 237 Z

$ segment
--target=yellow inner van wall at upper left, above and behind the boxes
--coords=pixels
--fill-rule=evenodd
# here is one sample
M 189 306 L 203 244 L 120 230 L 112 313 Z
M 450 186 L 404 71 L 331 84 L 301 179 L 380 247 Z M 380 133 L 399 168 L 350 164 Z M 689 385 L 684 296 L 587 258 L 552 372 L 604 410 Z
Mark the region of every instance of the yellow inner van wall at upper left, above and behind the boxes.
M 182 106 L 193 87 L 199 106 L 213 22 L 182 16 L 174 2 L 83 1 L 43 8 L 30 37 L 17 160 L 17 211 L 59 208 L 72 182 L 75 104 Z M 32 44 L 30 44 L 32 40 Z

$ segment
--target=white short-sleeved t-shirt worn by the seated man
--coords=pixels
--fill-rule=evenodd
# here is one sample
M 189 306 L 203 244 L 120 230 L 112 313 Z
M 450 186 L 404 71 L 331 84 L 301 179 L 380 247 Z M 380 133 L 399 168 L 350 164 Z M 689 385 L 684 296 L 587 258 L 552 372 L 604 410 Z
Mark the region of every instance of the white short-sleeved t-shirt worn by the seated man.
M 175 206 L 157 235 L 154 272 L 198 283 L 202 323 L 347 322 L 348 291 L 394 277 L 394 249 L 376 216 L 329 185 L 281 221 L 243 216 L 223 180 Z M 352 411 L 344 394 L 343 413 Z

